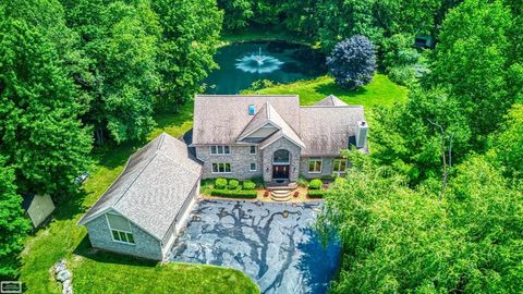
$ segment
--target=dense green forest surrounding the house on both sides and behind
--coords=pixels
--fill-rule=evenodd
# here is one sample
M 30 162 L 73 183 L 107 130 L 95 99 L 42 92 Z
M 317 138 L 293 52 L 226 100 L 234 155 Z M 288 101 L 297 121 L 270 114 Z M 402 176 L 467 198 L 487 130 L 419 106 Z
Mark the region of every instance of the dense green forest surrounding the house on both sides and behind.
M 365 36 L 409 88 L 317 223 L 342 241 L 332 293 L 523 290 L 523 2 L 0 2 L 0 277 L 20 274 L 26 193 L 76 197 L 93 155 L 144 142 L 217 68 L 223 35 L 289 32 L 326 54 Z M 416 36 L 436 46 L 414 48 Z

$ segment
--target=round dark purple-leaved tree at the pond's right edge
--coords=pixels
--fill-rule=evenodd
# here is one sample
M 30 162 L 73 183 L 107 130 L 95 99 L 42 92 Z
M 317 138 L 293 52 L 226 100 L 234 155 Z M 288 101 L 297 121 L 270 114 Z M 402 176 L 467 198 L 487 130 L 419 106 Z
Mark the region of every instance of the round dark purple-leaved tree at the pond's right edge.
M 365 36 L 354 36 L 336 45 L 327 66 L 342 87 L 354 89 L 369 83 L 376 72 L 373 44 Z

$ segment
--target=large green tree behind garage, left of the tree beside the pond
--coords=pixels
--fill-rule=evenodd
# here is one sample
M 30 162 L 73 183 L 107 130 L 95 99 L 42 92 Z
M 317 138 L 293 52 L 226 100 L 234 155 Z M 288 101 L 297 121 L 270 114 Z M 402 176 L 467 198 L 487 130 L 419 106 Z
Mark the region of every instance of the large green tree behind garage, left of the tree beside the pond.
M 84 88 L 93 97 L 84 120 L 95 126 L 99 143 L 105 131 L 117 143 L 144 138 L 155 124 L 160 86 L 158 16 L 146 0 L 62 2 L 94 76 Z

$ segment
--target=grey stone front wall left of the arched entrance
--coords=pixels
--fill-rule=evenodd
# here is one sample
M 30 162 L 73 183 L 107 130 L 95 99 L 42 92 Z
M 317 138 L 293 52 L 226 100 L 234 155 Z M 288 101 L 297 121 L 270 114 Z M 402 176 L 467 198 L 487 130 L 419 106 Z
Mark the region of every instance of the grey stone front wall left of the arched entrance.
M 256 154 L 251 155 L 250 145 L 229 145 L 230 155 L 211 155 L 210 146 L 197 146 L 196 157 L 204 162 L 202 177 L 229 177 L 246 180 L 262 177 L 262 155 L 258 147 Z M 256 163 L 256 171 L 251 171 L 251 162 Z M 230 173 L 212 173 L 212 163 L 230 163 Z

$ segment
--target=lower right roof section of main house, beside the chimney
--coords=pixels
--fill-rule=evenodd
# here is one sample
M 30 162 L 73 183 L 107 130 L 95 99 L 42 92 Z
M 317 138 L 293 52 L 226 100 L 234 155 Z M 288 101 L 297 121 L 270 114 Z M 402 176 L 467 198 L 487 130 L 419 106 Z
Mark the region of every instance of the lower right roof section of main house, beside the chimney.
M 300 137 L 305 143 L 302 156 L 339 156 L 349 148 L 356 122 L 364 121 L 363 107 L 301 107 Z

